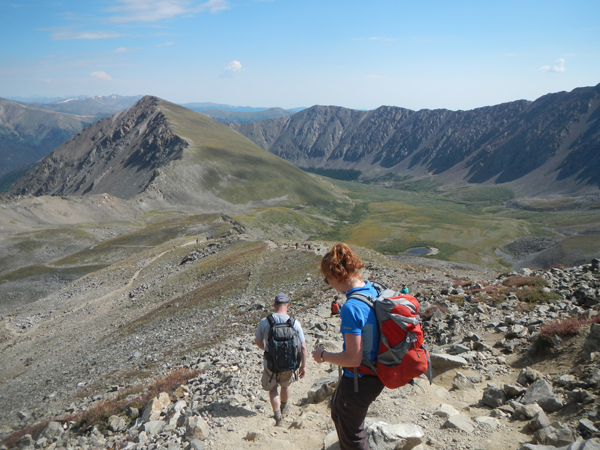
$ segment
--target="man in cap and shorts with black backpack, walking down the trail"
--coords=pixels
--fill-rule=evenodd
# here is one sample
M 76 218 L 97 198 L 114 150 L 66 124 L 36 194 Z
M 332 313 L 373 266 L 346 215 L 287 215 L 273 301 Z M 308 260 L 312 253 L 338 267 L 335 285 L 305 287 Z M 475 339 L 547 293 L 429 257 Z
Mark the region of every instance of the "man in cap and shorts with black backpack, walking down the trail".
M 273 305 L 275 312 L 258 323 L 254 336 L 256 345 L 265 351 L 262 387 L 269 392 L 275 426 L 281 426 L 288 412 L 290 384 L 294 378 L 304 378 L 306 373 L 306 343 L 297 320 L 288 316 L 290 300 L 277 294 Z M 296 370 L 298 373 L 296 374 Z M 277 387 L 281 385 L 281 397 Z

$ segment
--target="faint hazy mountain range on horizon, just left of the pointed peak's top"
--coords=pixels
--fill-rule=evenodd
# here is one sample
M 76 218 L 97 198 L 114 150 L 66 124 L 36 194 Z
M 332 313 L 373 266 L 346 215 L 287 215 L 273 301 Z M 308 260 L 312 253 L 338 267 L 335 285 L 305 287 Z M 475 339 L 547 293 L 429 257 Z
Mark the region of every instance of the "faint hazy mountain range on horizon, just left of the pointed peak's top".
M 105 117 L 129 108 L 141 95 L 124 97 L 122 95 L 97 95 L 95 97 L 76 97 L 52 103 L 23 103 L 33 108 L 77 115 Z

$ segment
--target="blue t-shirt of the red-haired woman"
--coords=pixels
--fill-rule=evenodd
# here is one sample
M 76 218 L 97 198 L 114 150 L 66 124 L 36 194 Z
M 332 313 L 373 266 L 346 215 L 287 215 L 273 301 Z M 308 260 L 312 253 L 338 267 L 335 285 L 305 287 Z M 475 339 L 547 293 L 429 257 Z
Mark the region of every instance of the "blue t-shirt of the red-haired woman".
M 360 293 L 363 295 L 377 298 L 377 291 L 370 281 L 366 281 L 362 287 L 357 287 L 346 292 L 346 303 L 340 310 L 342 325 L 340 331 L 342 334 L 355 334 L 362 336 L 363 352 L 371 361 L 377 359 L 379 352 L 379 330 L 377 329 L 377 316 L 375 310 L 365 302 L 352 297 L 352 294 Z M 344 350 L 346 344 L 344 343 Z M 351 370 L 344 369 L 345 377 L 353 377 Z M 360 376 L 360 374 L 359 374 Z

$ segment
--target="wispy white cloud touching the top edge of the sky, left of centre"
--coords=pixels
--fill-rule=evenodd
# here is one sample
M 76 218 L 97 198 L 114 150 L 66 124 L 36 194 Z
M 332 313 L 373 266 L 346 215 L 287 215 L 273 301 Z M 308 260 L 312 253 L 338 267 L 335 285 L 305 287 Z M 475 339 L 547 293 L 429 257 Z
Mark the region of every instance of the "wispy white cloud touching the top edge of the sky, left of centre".
M 189 0 L 118 0 L 119 6 L 107 11 L 116 12 L 111 18 L 113 22 L 157 22 L 179 16 L 192 16 L 209 11 L 216 13 L 229 9 L 227 0 L 208 0 L 194 4 Z

